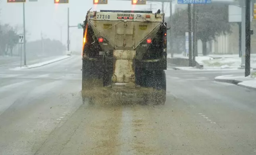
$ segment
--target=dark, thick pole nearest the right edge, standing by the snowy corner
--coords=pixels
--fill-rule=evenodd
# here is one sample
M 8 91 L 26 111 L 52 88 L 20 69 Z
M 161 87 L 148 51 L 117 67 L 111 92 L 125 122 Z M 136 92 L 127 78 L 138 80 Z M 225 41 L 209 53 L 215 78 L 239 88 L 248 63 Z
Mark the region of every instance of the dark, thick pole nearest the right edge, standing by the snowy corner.
M 245 76 L 250 75 L 250 48 L 251 48 L 251 34 L 250 34 L 250 13 L 251 0 L 245 2 Z

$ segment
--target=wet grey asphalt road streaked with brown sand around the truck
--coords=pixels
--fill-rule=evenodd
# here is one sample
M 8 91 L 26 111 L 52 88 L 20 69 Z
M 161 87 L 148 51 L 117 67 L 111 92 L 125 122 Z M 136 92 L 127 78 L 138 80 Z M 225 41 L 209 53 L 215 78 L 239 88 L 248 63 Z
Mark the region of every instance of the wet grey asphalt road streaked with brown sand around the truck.
M 241 72 L 167 70 L 164 106 L 82 104 L 81 57 L 0 70 L 2 155 L 256 154 L 255 91 Z

